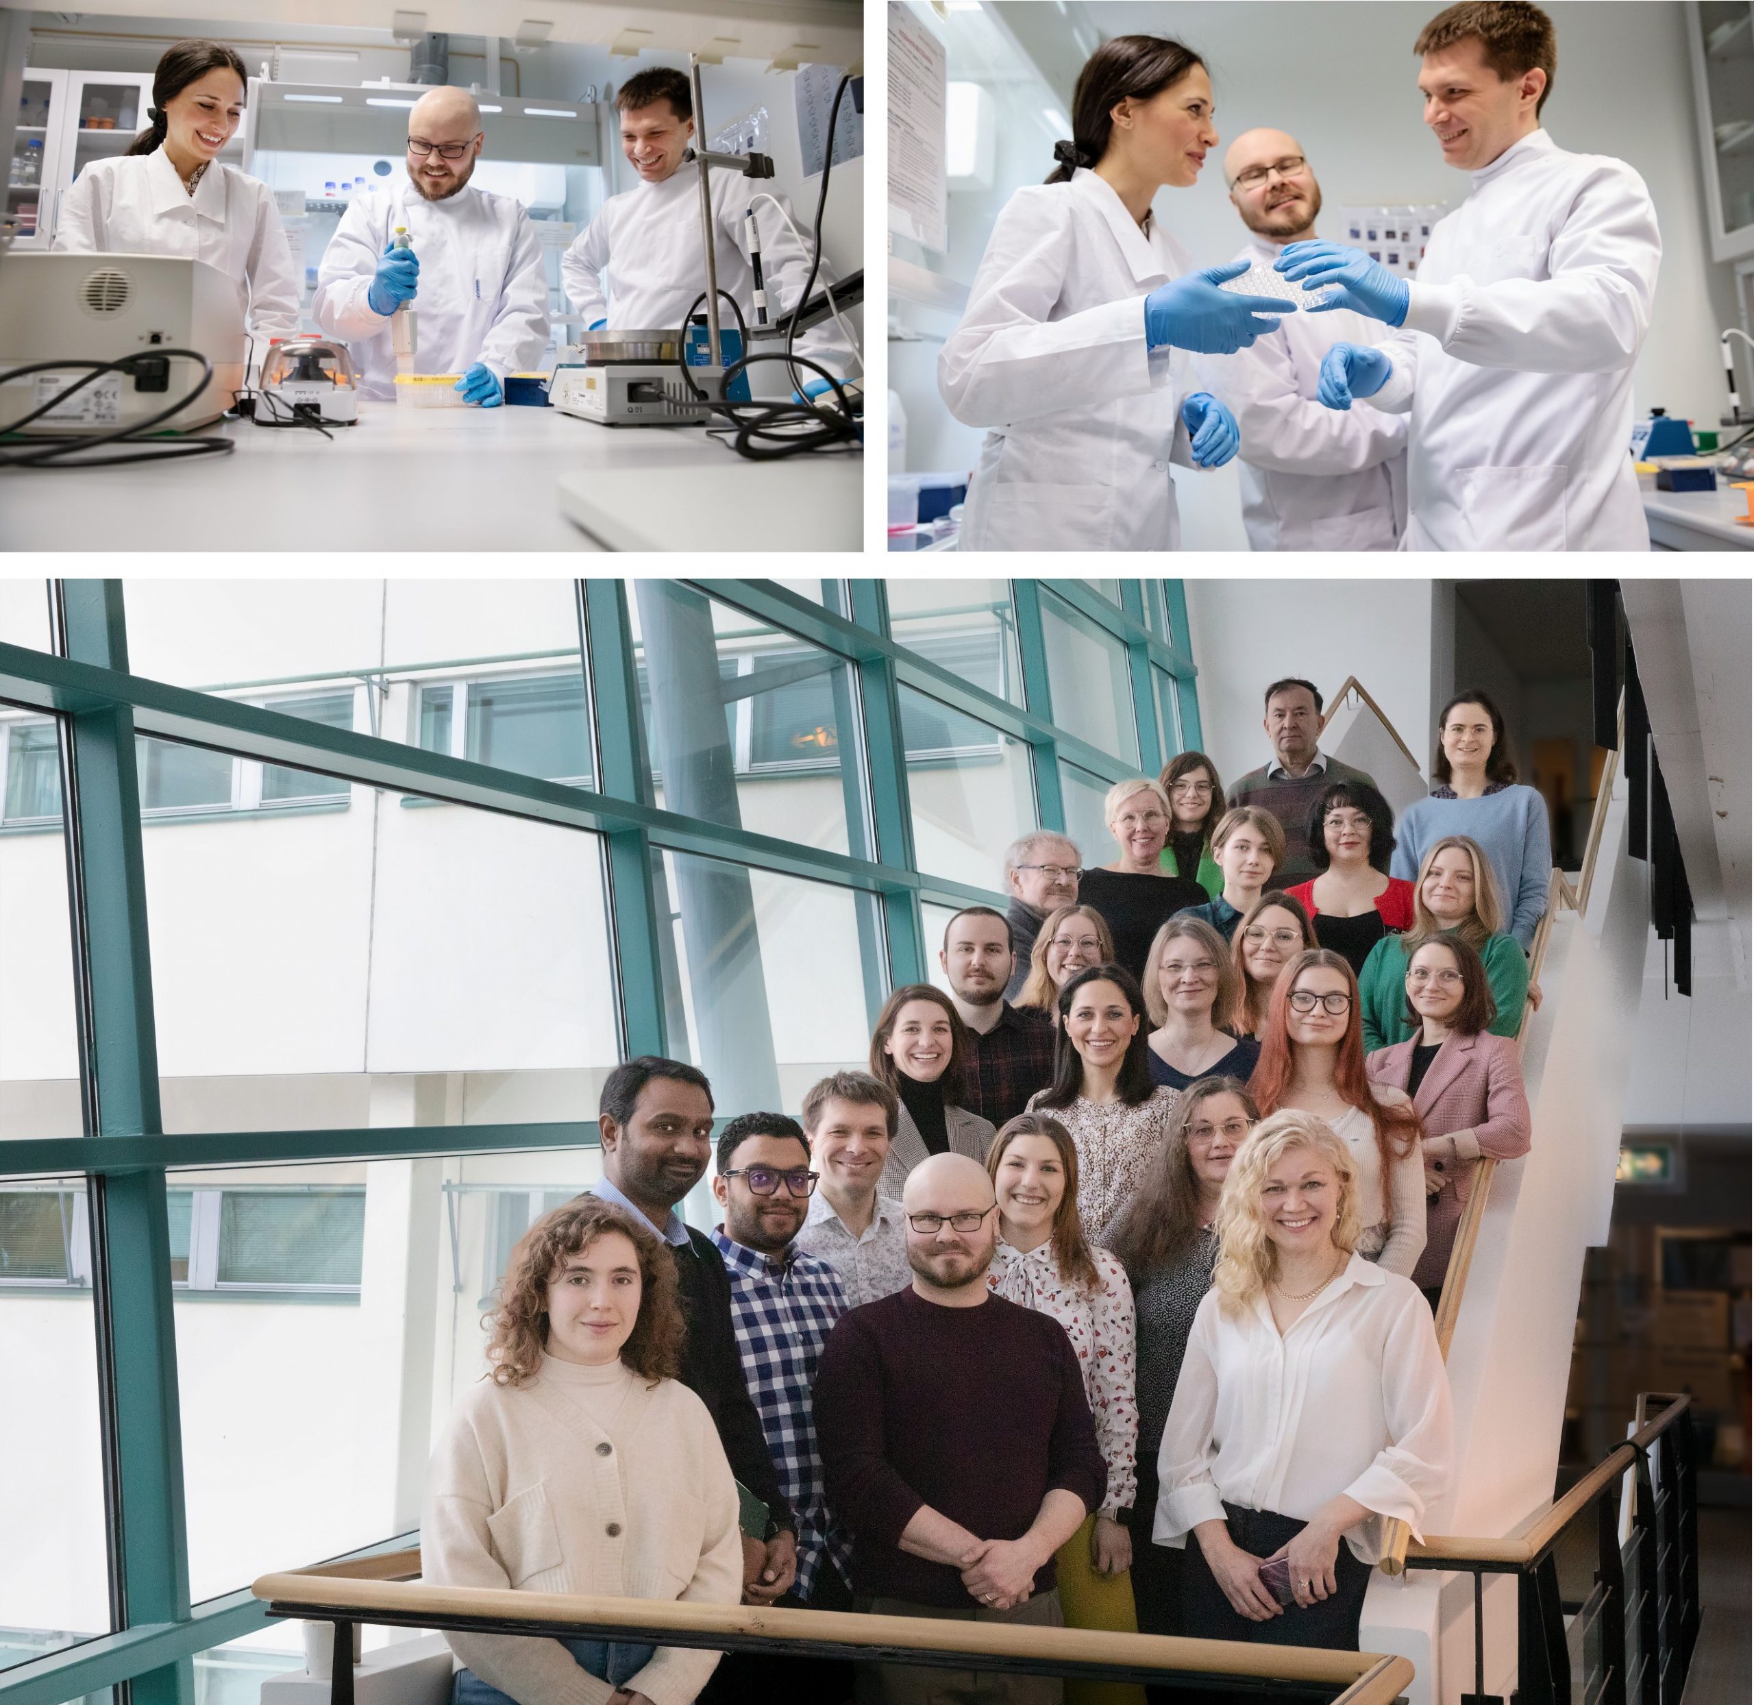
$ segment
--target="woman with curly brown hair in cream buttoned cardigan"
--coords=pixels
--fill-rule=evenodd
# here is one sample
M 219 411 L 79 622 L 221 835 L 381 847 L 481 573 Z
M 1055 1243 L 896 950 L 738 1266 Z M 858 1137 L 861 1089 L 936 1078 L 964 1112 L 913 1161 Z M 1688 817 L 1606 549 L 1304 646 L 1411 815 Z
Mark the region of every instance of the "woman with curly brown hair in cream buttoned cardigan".
M 737 1482 L 677 1379 L 684 1335 L 675 1263 L 649 1226 L 598 1196 L 538 1219 L 505 1270 L 488 1377 L 433 1452 L 426 1582 L 735 1605 Z M 446 1640 L 467 1665 L 453 1705 L 691 1700 L 719 1661 L 617 1640 Z

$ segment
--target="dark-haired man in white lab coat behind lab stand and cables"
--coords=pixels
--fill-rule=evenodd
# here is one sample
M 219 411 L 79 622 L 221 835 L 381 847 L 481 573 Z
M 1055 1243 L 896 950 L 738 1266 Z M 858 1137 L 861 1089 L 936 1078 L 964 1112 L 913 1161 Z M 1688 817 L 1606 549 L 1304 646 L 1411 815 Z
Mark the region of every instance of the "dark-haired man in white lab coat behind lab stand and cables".
M 698 303 L 700 314 L 707 310 L 700 179 L 691 151 L 695 103 L 688 74 L 668 67 L 637 72 L 621 86 L 616 109 L 621 114 L 621 151 L 640 181 L 612 195 L 574 239 L 560 263 L 561 282 L 588 330 L 679 332 L 691 305 Z M 809 249 L 793 237 L 774 200 L 756 202 L 759 195 L 779 198 L 772 179 L 714 170 L 709 182 L 719 289 L 737 298 L 744 319 L 754 326 L 754 268 L 745 219 L 754 205 L 768 323 L 782 323 L 810 274 Z M 824 274 L 817 272 L 816 295 L 823 281 Z M 737 323 L 723 296 L 719 316 L 724 325 Z M 824 363 L 837 374 L 844 372 L 844 358 L 851 353 L 835 335 L 833 321 L 800 333 L 793 347 L 812 360 L 838 356 Z M 749 353 L 747 346 L 744 353 Z

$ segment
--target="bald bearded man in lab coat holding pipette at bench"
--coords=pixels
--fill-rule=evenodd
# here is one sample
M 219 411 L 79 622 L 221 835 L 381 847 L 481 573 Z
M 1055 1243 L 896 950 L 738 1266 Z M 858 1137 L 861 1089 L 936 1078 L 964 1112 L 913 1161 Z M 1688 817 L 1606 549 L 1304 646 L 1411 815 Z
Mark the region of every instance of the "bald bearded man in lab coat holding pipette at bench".
M 547 347 L 547 277 L 524 209 L 470 184 L 486 139 L 467 89 L 428 89 L 409 112 L 407 182 L 356 196 L 317 275 L 316 321 L 346 339 L 367 396 L 396 395 L 391 317 L 417 314 L 412 374 L 461 374 L 496 407 L 505 375 Z M 410 247 L 396 247 L 396 230 Z

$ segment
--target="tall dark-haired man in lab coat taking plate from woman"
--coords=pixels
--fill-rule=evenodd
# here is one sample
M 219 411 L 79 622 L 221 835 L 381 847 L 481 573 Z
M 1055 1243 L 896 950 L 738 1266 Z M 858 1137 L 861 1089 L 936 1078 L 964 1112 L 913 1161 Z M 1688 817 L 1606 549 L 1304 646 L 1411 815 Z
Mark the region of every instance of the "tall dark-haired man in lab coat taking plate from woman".
M 1643 179 L 1540 128 L 1558 61 L 1540 7 L 1452 5 L 1414 51 L 1424 121 L 1473 189 L 1412 284 L 1338 244 L 1280 258 L 1400 328 L 1337 344 L 1321 400 L 1410 410 L 1405 549 L 1645 551 L 1628 446 L 1663 240 Z

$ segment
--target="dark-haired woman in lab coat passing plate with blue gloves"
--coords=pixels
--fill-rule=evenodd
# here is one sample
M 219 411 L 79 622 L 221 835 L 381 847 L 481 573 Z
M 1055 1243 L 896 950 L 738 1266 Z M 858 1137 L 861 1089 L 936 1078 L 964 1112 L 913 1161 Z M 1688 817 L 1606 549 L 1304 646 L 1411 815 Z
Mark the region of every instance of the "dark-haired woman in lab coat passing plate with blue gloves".
M 1196 53 L 1154 35 L 1105 42 L 1079 74 L 1072 133 L 1059 170 L 1000 212 L 938 356 L 951 414 L 988 428 L 965 551 L 1175 549 L 1170 463 L 1219 467 L 1238 446 L 1177 351 L 1245 349 L 1286 309 L 1219 289 L 1245 265 L 1191 272 L 1151 212 L 1217 147 Z

